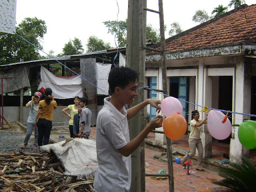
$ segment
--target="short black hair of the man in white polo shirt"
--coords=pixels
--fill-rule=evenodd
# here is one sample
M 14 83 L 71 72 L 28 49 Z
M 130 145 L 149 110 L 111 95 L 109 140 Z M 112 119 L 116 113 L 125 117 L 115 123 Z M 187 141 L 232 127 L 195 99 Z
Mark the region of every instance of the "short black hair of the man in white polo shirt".
M 138 74 L 135 70 L 129 67 L 114 67 L 110 70 L 108 75 L 108 84 L 111 92 L 114 92 L 115 87 L 119 86 L 125 88 L 130 82 L 137 80 Z

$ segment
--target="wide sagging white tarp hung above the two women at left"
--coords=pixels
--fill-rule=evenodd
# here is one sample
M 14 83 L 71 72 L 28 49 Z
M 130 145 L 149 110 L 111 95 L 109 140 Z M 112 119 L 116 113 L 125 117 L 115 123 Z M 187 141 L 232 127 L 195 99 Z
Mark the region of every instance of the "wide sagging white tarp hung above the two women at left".
M 49 87 L 52 89 L 54 98 L 82 97 L 81 77 L 79 75 L 55 76 L 43 66 L 41 66 L 40 75 L 41 82 L 38 90 Z

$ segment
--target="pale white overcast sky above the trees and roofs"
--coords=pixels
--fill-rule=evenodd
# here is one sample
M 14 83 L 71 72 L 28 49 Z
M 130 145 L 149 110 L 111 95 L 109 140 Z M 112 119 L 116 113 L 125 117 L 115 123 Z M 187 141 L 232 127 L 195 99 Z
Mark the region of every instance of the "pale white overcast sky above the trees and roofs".
M 183 30 L 198 23 L 192 16 L 198 9 L 204 9 L 209 15 L 219 4 L 227 6 L 230 0 L 163 0 L 164 24 L 167 31 L 170 23 L 177 21 Z M 127 18 L 128 0 L 117 0 L 118 20 Z M 251 5 L 255 0 L 245 0 Z M 158 10 L 158 0 L 147 0 L 147 8 Z M 228 10 L 231 10 L 230 8 Z M 17 0 L 16 23 L 25 17 L 37 17 L 46 22 L 47 33 L 42 40 L 43 50 L 54 54 L 62 52 L 69 39 L 77 37 L 86 50 L 87 39 L 95 35 L 114 46 L 114 36 L 107 33 L 102 21 L 116 20 L 118 7 L 116 0 Z M 159 28 L 156 13 L 147 12 L 147 23 Z M 17 25 L 16 24 L 16 25 Z M 167 33 L 165 38 L 169 37 Z M 43 53 L 42 53 L 43 54 Z

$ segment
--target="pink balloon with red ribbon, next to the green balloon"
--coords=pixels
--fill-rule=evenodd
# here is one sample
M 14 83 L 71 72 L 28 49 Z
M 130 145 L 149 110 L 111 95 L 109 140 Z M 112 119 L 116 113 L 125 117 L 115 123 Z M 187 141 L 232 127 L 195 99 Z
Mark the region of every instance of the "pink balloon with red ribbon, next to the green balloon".
M 210 110 L 207 118 L 208 130 L 211 136 L 219 140 L 227 138 L 232 131 L 232 125 L 228 118 L 222 123 L 224 116 L 219 110 Z

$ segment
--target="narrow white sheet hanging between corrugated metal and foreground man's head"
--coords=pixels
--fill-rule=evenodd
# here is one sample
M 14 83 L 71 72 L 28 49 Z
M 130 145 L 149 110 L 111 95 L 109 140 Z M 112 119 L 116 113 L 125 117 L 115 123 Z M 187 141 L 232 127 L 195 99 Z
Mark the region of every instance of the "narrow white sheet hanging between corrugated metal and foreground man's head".
M 97 74 L 97 94 L 106 94 L 108 93 L 108 74 L 111 69 L 111 64 L 103 64 L 96 62 L 96 74 Z

